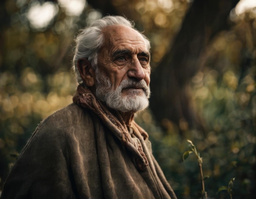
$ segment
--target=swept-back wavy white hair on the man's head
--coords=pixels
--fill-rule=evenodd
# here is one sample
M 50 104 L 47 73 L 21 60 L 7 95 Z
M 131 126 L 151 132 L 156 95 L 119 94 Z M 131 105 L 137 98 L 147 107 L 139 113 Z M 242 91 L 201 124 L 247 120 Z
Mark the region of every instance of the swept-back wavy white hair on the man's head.
M 99 51 L 104 43 L 103 29 L 111 25 L 124 25 L 135 29 L 134 22 L 127 20 L 122 16 L 105 16 L 92 22 L 89 27 L 85 27 L 84 29 L 82 29 L 76 37 L 76 47 L 73 58 L 73 70 L 76 74 L 76 79 L 79 84 L 82 84 L 83 80 L 77 68 L 77 61 L 81 58 L 87 58 L 88 61 L 91 63 L 92 67 L 95 70 L 97 69 Z M 137 32 L 141 34 L 141 32 Z M 149 51 L 150 42 L 146 38 L 146 36 L 144 36 L 144 34 L 141 35 L 143 36 L 146 42 L 146 47 Z

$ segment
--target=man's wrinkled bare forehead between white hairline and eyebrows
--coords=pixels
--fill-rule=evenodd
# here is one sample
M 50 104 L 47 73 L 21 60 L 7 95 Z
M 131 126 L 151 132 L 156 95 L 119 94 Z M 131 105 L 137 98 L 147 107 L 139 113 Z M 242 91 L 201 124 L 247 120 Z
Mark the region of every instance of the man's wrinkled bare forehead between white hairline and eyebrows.
M 112 25 L 104 29 L 105 45 L 112 47 L 119 43 L 129 43 L 134 45 L 144 45 L 146 48 L 146 42 L 143 36 L 130 27 L 123 25 Z

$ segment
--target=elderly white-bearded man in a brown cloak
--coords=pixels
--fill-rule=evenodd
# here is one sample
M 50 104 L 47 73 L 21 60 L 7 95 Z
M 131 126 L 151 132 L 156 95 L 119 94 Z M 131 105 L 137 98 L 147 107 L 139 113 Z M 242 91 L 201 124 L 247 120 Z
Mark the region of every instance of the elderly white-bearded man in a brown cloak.
M 20 153 L 2 199 L 175 199 L 135 112 L 148 107 L 150 44 L 120 16 L 76 38 L 71 105 L 43 120 Z

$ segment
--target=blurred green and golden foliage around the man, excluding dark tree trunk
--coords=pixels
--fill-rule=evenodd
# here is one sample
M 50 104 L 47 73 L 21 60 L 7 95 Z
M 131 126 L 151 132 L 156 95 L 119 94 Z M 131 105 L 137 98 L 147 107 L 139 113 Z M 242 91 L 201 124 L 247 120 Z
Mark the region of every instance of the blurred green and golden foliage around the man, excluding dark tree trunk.
M 74 35 L 103 15 L 88 5 L 83 13 L 72 16 L 59 4 L 56 16 L 37 29 L 27 18 L 33 2 L 4 0 L 0 4 L 0 186 L 36 125 L 72 102 L 76 87 L 71 72 Z M 129 17 L 130 1 L 104 2 L 113 2 L 111 6 Z M 135 9 L 130 16 L 137 16 L 137 28 L 145 30 L 151 40 L 152 66 L 157 67 L 180 29 L 189 1 L 132 2 Z M 198 60 L 201 70 L 180 88 L 191 96 L 192 108 L 204 121 L 204 132 L 189 129 L 185 120 L 179 125 L 168 119 L 157 123 L 150 109 L 136 118 L 149 133 L 153 153 L 179 199 L 202 196 L 201 157 L 203 179 L 209 176 L 205 190 L 211 199 L 230 198 L 231 190 L 234 199 L 255 195 L 255 11 L 232 22 L 229 31 L 218 33 L 202 49 Z M 193 140 L 189 150 L 187 140 Z M 192 152 L 196 155 L 189 156 Z M 230 181 L 233 177 L 236 181 Z

